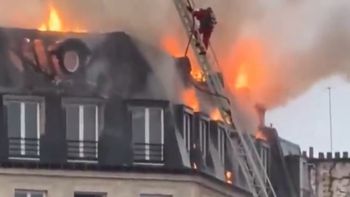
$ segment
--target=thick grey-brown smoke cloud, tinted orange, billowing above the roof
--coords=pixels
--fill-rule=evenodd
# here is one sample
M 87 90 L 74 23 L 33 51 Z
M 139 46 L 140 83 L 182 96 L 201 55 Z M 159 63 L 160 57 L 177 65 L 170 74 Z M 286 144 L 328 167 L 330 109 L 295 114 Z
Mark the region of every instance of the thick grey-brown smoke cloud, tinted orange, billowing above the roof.
M 90 31 L 126 31 L 154 45 L 159 45 L 163 35 L 175 34 L 182 48 L 187 43 L 171 0 L 0 0 L 0 24 L 37 28 L 47 18 L 49 2 L 62 13 L 63 21 Z M 267 45 L 263 80 L 251 88 L 254 102 L 273 108 L 331 75 L 349 78 L 348 0 L 195 2 L 197 7 L 212 6 L 216 12 L 219 23 L 212 45 L 219 60 L 232 56 L 232 48 L 242 37 L 255 37 Z

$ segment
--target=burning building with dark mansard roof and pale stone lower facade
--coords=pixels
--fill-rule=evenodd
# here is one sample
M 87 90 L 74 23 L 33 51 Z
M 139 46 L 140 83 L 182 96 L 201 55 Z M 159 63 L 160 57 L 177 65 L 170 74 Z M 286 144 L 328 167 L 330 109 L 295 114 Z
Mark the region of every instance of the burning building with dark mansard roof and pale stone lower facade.
M 159 71 L 191 86 L 186 58 L 121 32 L 0 29 L 0 60 L 0 196 L 252 196 L 228 127 L 169 96 Z

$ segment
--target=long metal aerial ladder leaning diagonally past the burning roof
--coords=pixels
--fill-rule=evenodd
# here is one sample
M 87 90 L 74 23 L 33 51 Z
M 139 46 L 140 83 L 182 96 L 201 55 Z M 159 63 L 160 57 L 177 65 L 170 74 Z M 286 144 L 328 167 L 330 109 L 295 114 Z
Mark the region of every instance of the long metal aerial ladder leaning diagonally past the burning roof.
M 237 155 L 239 166 L 246 179 L 247 188 L 254 197 L 276 197 L 276 193 L 262 164 L 252 136 L 244 131 L 244 128 L 240 125 L 234 97 L 232 95 L 230 97 L 227 96 L 220 77 L 214 71 L 215 67 L 213 66 L 219 68 L 219 65 L 213 48 L 210 48 L 211 50 L 208 50 L 206 55 L 203 55 L 201 53 L 202 49 L 198 47 L 198 42 L 203 46 L 201 39 L 198 37 L 192 39 L 194 37 L 193 31 L 196 30 L 194 28 L 194 18 L 192 13 L 188 11 L 187 6 L 193 8 L 195 6 L 193 0 L 173 0 L 173 2 L 186 29 L 190 40 L 189 45 L 192 46 L 206 78 L 208 90 L 214 95 L 213 100 L 218 106 L 223 119 L 233 128 L 232 130 L 227 130 L 226 135 L 228 136 L 229 145 Z M 231 137 L 232 134 L 236 137 Z

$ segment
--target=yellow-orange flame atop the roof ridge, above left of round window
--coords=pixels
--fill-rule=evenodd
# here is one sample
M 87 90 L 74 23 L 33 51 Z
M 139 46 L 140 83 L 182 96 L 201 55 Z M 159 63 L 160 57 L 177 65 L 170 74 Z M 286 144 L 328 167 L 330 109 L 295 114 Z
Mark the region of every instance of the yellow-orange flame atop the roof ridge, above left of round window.
M 60 31 L 60 32 L 86 32 L 86 30 L 81 28 L 66 29 L 63 28 L 62 20 L 57 12 L 57 10 L 50 5 L 49 6 L 49 19 L 47 22 L 40 25 L 39 31 Z

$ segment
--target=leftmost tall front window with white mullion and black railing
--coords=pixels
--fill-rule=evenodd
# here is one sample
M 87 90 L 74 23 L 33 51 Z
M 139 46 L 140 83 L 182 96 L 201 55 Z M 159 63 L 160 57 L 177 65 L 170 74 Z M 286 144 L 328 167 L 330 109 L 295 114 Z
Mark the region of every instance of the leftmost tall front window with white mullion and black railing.
M 9 157 L 39 159 L 44 131 L 44 100 L 39 97 L 5 96 Z

